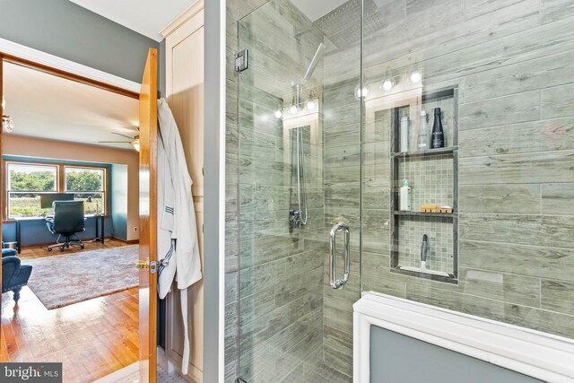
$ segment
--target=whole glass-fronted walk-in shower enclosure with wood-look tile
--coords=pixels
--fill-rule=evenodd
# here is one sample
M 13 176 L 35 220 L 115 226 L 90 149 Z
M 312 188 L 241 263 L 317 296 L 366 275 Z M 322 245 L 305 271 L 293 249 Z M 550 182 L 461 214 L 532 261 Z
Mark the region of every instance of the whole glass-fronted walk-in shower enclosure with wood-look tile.
M 228 27 L 230 381 L 352 381 L 367 291 L 574 337 L 574 4 L 259 3 Z

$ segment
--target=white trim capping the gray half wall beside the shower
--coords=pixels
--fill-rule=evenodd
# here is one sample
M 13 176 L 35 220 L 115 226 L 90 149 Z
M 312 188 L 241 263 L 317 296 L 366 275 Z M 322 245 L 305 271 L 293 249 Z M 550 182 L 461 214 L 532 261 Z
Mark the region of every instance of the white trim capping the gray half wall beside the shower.
M 370 381 L 370 327 L 379 326 L 549 382 L 574 381 L 574 341 L 449 309 L 365 292 L 353 305 L 353 381 Z

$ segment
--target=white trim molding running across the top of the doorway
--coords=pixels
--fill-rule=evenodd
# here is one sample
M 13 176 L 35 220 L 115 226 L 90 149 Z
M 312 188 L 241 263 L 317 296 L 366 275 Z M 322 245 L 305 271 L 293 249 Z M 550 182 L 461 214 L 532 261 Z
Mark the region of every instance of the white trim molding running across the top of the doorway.
M 20 57 L 37 64 L 46 65 L 69 74 L 76 74 L 100 83 L 107 83 L 126 91 L 140 92 L 140 84 L 125 78 L 118 77 L 115 74 L 109 74 L 87 65 L 75 63 L 62 57 L 50 55 L 41 50 L 29 48 L 21 44 L 0 38 L 0 52 L 13 57 Z

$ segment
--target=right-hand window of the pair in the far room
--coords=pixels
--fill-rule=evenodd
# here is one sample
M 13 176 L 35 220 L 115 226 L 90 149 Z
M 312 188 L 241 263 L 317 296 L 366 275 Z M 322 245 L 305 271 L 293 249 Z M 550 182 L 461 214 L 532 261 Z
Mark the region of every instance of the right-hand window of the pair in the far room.
M 75 199 L 83 200 L 86 214 L 105 213 L 106 170 L 96 168 L 65 168 L 65 193 L 74 193 Z

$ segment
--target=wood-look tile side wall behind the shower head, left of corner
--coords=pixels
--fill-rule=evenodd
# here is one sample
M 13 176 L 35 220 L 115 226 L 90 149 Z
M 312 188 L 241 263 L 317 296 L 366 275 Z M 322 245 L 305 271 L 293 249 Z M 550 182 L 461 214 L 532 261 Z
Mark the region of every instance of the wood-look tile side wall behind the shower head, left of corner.
M 302 78 L 323 35 L 286 0 L 248 14 L 257 5 L 228 4 L 228 51 L 248 48 L 250 62 L 243 74 L 228 72 L 226 381 L 279 382 L 303 379 L 322 359 L 320 116 L 303 128 L 309 221 L 290 230 L 294 135 L 274 111 L 282 98 L 289 106 L 291 81 Z

